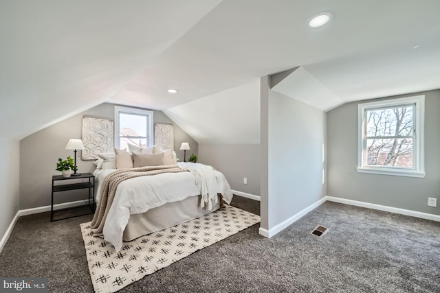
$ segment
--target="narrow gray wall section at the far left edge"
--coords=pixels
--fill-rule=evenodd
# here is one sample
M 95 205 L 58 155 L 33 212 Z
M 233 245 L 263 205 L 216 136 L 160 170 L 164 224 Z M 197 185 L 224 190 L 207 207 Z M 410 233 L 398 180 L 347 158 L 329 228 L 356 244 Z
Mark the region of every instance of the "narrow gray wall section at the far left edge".
M 0 137 L 0 239 L 19 211 L 20 142 Z

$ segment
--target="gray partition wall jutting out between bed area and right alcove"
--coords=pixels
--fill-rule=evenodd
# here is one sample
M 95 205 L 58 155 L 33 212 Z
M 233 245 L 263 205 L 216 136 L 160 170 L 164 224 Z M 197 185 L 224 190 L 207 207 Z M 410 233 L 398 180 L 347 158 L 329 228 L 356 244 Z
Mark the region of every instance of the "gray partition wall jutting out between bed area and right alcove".
M 261 227 L 270 230 L 325 196 L 327 126 L 325 112 L 268 84 L 261 79 Z

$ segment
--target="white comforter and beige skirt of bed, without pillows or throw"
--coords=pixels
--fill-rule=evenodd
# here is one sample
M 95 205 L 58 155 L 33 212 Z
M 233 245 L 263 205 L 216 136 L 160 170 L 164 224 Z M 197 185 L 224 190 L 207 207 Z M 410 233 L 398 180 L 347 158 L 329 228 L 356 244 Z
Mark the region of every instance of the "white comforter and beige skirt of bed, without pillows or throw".
M 104 220 L 102 235 L 113 244 L 116 251 L 122 248 L 123 241 L 206 215 L 219 209 L 223 201 L 229 204 L 232 200 L 232 191 L 225 176 L 210 166 L 177 163 L 164 167 L 178 167 L 181 170 L 129 178 L 119 183 L 115 189 L 113 202 Z M 139 169 L 142 168 L 119 171 L 113 168 L 97 168 L 94 176 L 98 207 L 101 203 L 101 189 L 107 176 L 124 172 L 123 170 L 133 172 Z M 210 179 L 212 186 L 207 186 L 205 183 Z M 209 197 L 208 191 L 215 196 Z

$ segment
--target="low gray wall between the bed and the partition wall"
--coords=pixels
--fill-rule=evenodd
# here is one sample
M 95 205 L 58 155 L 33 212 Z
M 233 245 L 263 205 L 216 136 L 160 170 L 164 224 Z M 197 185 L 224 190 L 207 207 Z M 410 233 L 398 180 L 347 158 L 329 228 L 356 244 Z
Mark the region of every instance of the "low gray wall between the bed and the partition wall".
M 232 189 L 260 195 L 259 144 L 199 144 L 199 163 L 222 172 Z M 247 185 L 243 178 L 248 178 Z

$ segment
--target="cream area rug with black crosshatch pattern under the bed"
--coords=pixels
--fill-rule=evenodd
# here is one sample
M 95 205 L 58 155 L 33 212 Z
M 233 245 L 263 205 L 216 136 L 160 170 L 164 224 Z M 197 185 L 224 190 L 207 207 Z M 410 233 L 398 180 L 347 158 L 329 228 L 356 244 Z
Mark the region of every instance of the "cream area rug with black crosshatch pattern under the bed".
M 90 222 L 80 224 L 95 292 L 115 292 L 197 250 L 260 222 L 259 215 L 226 205 L 195 220 L 124 242 L 116 253 L 94 237 Z

